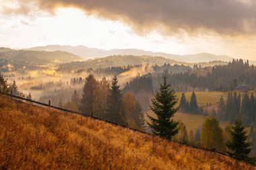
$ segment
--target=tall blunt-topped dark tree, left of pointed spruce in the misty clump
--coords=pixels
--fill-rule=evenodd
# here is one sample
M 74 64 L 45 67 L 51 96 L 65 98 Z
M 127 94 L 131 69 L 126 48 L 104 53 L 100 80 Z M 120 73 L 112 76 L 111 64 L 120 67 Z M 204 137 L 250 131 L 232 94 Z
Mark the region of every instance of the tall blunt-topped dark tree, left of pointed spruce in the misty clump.
M 86 77 L 86 82 L 82 89 L 82 99 L 79 101 L 79 111 L 82 114 L 92 114 L 94 106 L 94 97 L 98 83 L 94 78 L 94 75 Z

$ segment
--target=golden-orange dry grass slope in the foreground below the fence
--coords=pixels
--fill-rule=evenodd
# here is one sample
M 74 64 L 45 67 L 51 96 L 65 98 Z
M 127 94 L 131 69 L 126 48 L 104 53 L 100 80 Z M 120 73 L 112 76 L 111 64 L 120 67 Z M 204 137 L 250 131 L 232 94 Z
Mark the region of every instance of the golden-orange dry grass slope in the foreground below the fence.
M 254 169 L 226 156 L 3 96 L 0 97 L 0 167 Z

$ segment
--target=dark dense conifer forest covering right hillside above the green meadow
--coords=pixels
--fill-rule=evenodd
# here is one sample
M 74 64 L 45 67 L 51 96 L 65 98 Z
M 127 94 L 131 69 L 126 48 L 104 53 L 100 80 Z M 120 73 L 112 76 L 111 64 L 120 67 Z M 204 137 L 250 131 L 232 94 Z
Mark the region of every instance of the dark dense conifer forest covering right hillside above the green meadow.
M 208 71 L 209 70 L 209 71 Z M 169 73 L 168 81 L 172 82 L 172 87 L 177 91 L 189 91 L 189 89 L 209 89 L 212 91 L 232 91 L 237 85 L 246 85 L 249 89 L 254 89 L 256 84 L 256 69 L 249 62 L 232 60 L 228 65 L 216 65 L 214 67 L 199 68 L 198 71 L 188 70 L 185 73 Z M 145 75 L 152 77 L 153 89 L 159 88 L 159 79 L 162 74 L 154 73 Z M 135 81 L 143 81 L 143 77 Z M 135 83 L 135 82 L 133 82 Z M 136 88 L 136 87 L 133 87 Z M 136 89 L 140 90 L 140 89 Z

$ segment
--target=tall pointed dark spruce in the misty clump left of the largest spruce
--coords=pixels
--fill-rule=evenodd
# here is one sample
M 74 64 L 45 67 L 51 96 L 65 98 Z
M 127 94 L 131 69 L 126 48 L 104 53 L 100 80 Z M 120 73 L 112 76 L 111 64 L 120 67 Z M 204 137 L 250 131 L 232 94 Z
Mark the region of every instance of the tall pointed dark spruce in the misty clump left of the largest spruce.
M 127 122 L 123 111 L 122 97 L 122 90 L 115 76 L 106 98 L 106 120 L 125 125 Z

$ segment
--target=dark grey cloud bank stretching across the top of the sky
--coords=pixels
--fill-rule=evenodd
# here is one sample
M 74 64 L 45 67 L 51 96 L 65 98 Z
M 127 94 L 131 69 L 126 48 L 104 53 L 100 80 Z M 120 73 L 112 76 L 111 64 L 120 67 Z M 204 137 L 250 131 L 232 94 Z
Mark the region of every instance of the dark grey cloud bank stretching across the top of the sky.
M 54 13 L 77 7 L 89 15 L 121 21 L 135 32 L 157 30 L 163 35 L 209 34 L 256 36 L 253 0 L 20 0 L 20 8 L 5 13 L 28 15 L 33 9 Z

